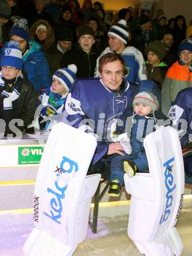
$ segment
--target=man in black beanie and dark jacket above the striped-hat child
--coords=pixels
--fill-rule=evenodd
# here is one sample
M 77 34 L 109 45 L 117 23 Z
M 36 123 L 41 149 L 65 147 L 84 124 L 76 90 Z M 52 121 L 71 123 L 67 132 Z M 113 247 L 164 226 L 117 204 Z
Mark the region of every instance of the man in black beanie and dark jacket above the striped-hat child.
M 51 75 L 60 67 L 63 54 L 67 53 L 72 47 L 74 33 L 69 28 L 59 28 L 56 34 L 56 43 L 45 51 L 46 59 L 50 67 Z

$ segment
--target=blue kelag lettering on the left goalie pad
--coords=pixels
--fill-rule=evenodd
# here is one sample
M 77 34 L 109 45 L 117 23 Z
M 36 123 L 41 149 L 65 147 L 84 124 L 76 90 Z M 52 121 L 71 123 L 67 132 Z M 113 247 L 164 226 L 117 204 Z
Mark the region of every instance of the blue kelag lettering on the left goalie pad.
M 63 211 L 63 199 L 65 198 L 65 192 L 67 190 L 68 182 L 74 173 L 78 171 L 78 164 L 69 158 L 63 156 L 63 160 L 56 170 L 56 180 L 54 182 L 54 188 L 47 188 L 47 192 L 50 193 L 52 198 L 50 199 L 50 213 L 43 212 L 44 215 L 52 219 L 58 224 L 61 224 L 59 219 Z

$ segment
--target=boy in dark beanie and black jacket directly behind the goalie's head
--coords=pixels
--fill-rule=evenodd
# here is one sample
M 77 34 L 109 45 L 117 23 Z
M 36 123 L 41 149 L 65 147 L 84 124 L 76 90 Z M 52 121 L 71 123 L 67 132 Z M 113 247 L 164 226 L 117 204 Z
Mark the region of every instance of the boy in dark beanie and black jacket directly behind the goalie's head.
M 61 67 L 67 68 L 69 64 L 77 67 L 77 77 L 93 77 L 97 54 L 93 49 L 95 32 L 88 25 L 80 26 L 77 30 L 78 43 L 63 55 Z

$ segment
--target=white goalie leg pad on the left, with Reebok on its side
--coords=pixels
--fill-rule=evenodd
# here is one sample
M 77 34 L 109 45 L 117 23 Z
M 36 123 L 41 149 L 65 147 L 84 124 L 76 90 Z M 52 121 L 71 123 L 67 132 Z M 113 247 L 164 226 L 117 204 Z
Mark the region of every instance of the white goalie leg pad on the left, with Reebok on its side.
M 86 238 L 91 197 L 101 175 L 86 177 L 95 137 L 64 123 L 55 125 L 42 155 L 34 192 L 35 228 L 27 256 L 70 256 Z

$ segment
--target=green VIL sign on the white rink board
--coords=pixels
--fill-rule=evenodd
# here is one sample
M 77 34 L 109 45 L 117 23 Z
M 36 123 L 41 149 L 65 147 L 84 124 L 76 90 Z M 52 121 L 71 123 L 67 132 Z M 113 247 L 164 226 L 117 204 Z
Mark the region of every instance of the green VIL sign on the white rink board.
M 19 146 L 18 147 L 18 164 L 39 164 L 44 147 L 42 146 Z

